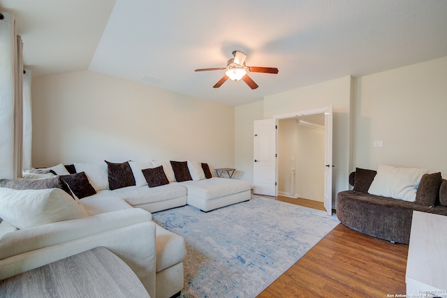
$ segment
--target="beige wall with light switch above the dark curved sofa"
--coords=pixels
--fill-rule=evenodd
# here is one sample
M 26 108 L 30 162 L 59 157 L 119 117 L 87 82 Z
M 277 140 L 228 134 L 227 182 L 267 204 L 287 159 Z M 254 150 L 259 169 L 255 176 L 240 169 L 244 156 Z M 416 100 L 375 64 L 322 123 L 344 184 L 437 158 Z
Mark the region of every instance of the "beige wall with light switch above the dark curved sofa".
M 447 57 L 360 77 L 355 96 L 354 166 L 424 167 L 447 177 Z

